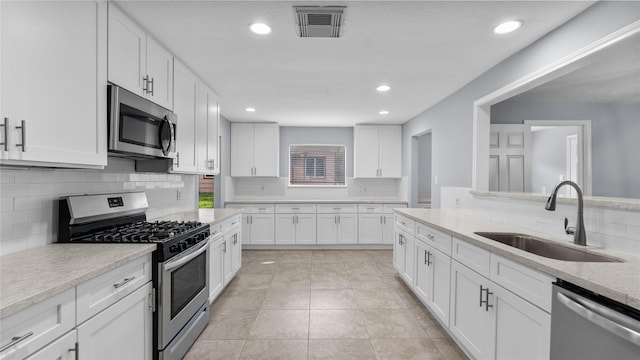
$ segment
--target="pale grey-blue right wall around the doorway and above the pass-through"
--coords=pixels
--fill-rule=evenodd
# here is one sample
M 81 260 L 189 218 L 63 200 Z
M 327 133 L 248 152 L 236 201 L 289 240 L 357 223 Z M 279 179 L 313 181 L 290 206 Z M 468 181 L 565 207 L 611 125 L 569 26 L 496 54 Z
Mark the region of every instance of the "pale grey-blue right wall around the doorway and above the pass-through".
M 639 2 L 598 2 L 409 120 L 403 126 L 404 175 L 411 179 L 410 172 L 417 170 L 410 166 L 411 137 L 431 129 L 432 175 L 439 179 L 432 188 L 432 203 L 440 207 L 441 186 L 470 187 L 472 183 L 475 100 L 639 19 Z

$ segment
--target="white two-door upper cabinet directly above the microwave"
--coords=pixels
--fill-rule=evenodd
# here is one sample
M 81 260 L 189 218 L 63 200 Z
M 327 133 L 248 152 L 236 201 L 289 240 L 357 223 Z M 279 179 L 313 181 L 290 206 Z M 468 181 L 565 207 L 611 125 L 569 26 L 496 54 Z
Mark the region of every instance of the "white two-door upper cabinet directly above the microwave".
M 173 109 L 173 55 L 109 3 L 109 81 Z

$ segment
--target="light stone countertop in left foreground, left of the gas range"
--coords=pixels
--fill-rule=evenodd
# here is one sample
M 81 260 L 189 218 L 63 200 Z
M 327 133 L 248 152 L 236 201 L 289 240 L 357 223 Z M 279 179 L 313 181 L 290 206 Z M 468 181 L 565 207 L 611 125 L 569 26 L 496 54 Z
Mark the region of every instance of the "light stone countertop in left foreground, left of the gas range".
M 155 244 L 49 244 L 0 257 L 0 318 L 153 252 Z

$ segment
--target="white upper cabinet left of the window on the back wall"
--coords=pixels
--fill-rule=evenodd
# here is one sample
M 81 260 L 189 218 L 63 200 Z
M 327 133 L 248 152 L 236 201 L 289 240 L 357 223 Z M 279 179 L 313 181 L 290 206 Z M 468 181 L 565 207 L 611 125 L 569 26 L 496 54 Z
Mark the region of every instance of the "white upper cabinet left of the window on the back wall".
M 272 123 L 231 123 L 231 176 L 278 177 L 280 129 Z

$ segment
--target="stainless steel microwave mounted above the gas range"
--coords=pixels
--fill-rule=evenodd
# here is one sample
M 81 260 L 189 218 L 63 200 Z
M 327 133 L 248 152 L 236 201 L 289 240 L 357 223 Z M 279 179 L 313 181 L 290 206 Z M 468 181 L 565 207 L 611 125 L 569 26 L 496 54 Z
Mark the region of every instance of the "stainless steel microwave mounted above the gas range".
M 108 85 L 109 154 L 175 158 L 176 115 L 116 85 Z

